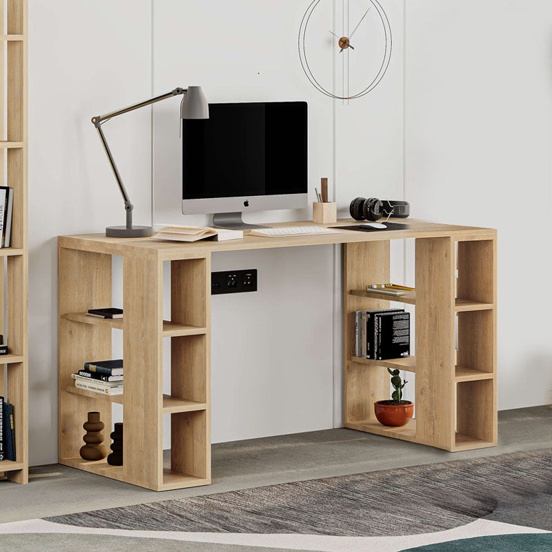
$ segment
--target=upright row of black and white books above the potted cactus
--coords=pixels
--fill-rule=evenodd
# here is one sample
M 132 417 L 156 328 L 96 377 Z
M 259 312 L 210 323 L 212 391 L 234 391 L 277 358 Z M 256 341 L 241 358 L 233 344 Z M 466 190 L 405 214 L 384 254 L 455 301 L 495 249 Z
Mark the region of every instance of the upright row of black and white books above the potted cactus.
M 355 356 L 384 360 L 410 355 L 410 313 L 404 308 L 355 312 Z

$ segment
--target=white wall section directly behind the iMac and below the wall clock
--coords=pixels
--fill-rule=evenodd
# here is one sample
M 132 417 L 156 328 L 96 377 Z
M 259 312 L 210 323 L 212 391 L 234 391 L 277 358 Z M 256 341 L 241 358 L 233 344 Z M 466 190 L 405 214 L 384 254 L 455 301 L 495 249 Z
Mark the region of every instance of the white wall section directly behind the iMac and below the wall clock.
M 154 92 L 201 84 L 213 102 L 308 101 L 311 201 L 323 176 L 337 183 L 331 193 L 344 216 L 356 195 L 400 199 L 402 1 L 384 2 L 395 30 L 388 75 L 373 94 L 348 106 L 317 92 L 302 71 L 297 31 L 307 6 L 284 0 L 275 10 L 255 0 L 240 0 L 217 3 L 214 10 L 213 4 L 200 1 L 155 0 Z M 322 4 L 328 27 L 333 7 L 332 1 Z M 331 43 L 329 33 L 328 37 Z M 328 47 L 316 60 L 321 70 L 327 68 L 330 83 L 331 52 Z M 210 224 L 209 217 L 181 214 L 177 100 L 170 103 L 154 109 L 154 218 Z M 244 216 L 255 222 L 311 217 L 311 207 Z M 397 259 L 402 269 L 402 253 Z M 213 262 L 218 270 L 258 268 L 260 289 L 250 296 L 213 298 L 213 442 L 341 425 L 339 248 L 228 253 L 214 255 Z M 244 339 L 247 347 L 242 346 Z M 168 380 L 168 353 L 165 359 Z

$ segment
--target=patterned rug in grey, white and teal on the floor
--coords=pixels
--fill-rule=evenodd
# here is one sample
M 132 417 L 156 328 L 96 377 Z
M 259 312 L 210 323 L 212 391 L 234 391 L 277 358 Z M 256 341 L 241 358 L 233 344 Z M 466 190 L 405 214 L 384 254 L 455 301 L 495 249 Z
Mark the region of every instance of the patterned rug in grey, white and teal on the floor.
M 552 450 L 0 525 L 0 549 L 5 550 L 262 548 L 550 552 Z

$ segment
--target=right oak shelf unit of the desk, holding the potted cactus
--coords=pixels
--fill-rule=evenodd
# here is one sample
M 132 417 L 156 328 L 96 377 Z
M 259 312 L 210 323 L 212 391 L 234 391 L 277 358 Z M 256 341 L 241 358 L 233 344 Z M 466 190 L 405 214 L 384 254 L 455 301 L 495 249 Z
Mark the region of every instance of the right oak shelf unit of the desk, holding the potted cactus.
M 366 291 L 367 283 L 391 279 L 389 242 L 344 245 L 345 426 L 451 452 L 494 446 L 496 238 L 416 238 L 415 260 L 415 292 L 390 297 Z M 389 308 L 392 301 L 416 306 L 416 356 L 355 357 L 355 311 Z M 375 418 L 373 403 L 389 396 L 387 367 L 415 373 L 416 419 L 403 428 Z

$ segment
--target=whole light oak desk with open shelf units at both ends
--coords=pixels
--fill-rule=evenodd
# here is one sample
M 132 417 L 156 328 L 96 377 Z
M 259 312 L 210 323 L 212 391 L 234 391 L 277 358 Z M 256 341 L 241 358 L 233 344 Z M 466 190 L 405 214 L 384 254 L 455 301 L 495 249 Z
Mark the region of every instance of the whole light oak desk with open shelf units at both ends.
M 210 255 L 322 244 L 344 244 L 345 426 L 447 451 L 495 445 L 496 231 L 406 222 L 409 228 L 399 231 L 344 230 L 335 235 L 280 238 L 247 235 L 193 244 L 103 234 L 60 236 L 59 462 L 156 491 L 209 484 Z M 271 226 L 305 224 L 313 223 Z M 391 239 L 415 239 L 416 293 L 397 301 L 417 306 L 416 357 L 357 358 L 353 356 L 355 311 L 390 304 L 389 297 L 368 295 L 364 289 L 366 284 L 390 279 Z M 112 255 L 124 259 L 124 319 L 87 317 L 89 308 L 111 304 Z M 162 315 L 164 261 L 171 262 L 168 321 Z M 110 358 L 112 328 L 124 333 L 124 395 L 108 397 L 75 388 L 71 373 L 90 359 Z M 171 340 L 170 395 L 162 393 L 164 337 Z M 388 397 L 386 366 L 416 374 L 416 418 L 402 428 L 387 428 L 375 420 L 373 402 Z M 121 467 L 79 457 L 86 413 L 99 411 L 109 428 L 111 402 L 124 405 Z M 165 413 L 171 415 L 170 469 L 163 467 Z

